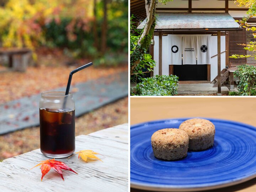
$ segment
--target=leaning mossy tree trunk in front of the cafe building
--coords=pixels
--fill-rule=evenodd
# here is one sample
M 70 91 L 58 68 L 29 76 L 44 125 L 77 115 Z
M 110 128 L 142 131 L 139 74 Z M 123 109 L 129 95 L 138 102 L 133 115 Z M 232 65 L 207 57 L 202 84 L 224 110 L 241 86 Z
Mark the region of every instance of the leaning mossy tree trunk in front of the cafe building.
M 130 56 L 130 73 L 132 74 L 134 69 L 137 67 L 139 62 L 142 60 L 143 55 L 146 50 L 149 48 L 151 43 L 152 35 L 155 29 L 155 9 L 156 9 L 157 0 L 145 0 L 145 9 L 146 9 L 146 24 L 144 31 L 138 40 L 138 44 Z

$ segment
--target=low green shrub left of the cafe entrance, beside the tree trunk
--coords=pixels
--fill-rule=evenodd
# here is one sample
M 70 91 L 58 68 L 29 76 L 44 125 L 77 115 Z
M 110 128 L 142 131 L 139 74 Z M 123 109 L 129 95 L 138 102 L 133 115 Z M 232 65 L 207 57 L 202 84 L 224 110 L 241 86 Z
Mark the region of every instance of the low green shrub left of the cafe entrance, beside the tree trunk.
M 141 78 L 131 95 L 156 95 L 156 96 L 168 96 L 176 95 L 178 88 L 178 77 L 176 75 L 156 75 L 150 78 Z

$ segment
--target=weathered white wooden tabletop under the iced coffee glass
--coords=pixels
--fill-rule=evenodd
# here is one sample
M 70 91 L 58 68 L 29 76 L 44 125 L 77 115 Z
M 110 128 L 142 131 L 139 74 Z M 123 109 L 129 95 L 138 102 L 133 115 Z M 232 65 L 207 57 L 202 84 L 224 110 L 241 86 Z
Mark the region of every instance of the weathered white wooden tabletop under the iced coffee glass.
M 1 191 L 128 191 L 128 124 L 76 137 L 75 151 L 91 149 L 105 157 L 85 163 L 78 156 L 59 159 L 78 175 L 63 171 L 65 181 L 50 170 L 41 182 L 39 161 L 48 159 L 39 149 L 0 163 Z M 58 160 L 58 159 L 57 159 Z

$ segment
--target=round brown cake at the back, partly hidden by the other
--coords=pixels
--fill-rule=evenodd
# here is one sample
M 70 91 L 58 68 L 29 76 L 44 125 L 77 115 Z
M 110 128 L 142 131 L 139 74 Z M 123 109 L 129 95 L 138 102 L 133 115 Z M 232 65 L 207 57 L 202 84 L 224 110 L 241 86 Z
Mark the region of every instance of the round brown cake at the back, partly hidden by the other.
M 206 119 L 189 119 L 180 125 L 189 136 L 188 149 L 204 150 L 214 143 L 215 126 Z

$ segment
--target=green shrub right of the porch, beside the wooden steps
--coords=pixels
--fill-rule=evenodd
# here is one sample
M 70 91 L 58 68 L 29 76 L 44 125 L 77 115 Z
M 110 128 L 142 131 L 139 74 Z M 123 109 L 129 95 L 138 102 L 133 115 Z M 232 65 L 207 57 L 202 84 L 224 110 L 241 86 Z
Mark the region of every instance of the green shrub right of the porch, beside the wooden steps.
M 255 92 L 256 86 L 256 67 L 240 65 L 237 68 L 234 75 L 239 77 L 239 80 L 236 81 L 239 95 L 252 95 L 252 92 Z

